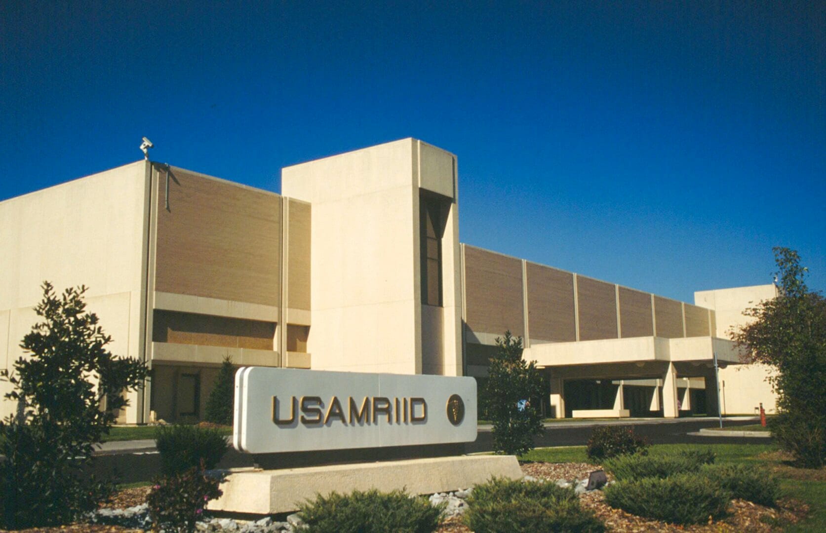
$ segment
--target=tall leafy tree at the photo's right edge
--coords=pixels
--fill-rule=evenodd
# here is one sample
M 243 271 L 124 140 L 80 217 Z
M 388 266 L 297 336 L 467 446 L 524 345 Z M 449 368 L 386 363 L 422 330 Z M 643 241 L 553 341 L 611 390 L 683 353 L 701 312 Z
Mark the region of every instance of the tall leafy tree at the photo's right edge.
M 801 465 L 826 462 L 826 298 L 805 284 L 807 268 L 789 248 L 774 248 L 780 294 L 744 313 L 735 332 L 747 362 L 765 363 L 777 394 L 772 434 Z

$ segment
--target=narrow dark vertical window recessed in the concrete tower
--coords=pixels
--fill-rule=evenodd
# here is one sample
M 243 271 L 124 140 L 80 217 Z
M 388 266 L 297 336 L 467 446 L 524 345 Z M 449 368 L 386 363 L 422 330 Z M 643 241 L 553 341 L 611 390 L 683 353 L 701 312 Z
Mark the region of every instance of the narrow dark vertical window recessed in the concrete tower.
M 444 215 L 437 196 L 420 196 L 421 303 L 442 304 L 442 234 Z

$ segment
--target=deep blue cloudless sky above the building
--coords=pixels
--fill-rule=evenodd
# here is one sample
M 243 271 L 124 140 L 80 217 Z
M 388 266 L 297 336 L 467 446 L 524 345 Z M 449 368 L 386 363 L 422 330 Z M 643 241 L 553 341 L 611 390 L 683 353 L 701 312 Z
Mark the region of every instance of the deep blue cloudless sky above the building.
M 0 3 L 2 199 L 143 135 L 273 191 L 412 136 L 464 243 L 686 301 L 779 245 L 826 288 L 826 2 L 55 3 Z

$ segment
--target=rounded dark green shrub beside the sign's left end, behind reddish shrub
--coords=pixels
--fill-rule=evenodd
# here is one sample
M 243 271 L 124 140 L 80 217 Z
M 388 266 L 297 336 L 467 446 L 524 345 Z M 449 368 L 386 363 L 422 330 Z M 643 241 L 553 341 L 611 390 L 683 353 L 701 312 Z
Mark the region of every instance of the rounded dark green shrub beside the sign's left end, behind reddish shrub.
M 226 453 L 226 441 L 217 429 L 198 426 L 161 426 L 155 432 L 161 472 L 181 474 L 202 464 L 214 469 Z

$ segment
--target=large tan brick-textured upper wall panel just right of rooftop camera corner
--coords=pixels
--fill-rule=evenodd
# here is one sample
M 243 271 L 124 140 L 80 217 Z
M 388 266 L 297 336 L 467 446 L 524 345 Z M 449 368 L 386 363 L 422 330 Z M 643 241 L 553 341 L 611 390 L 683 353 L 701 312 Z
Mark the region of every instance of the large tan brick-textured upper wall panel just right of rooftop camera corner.
M 280 305 L 281 198 L 172 167 L 168 210 L 157 168 L 155 290 Z

